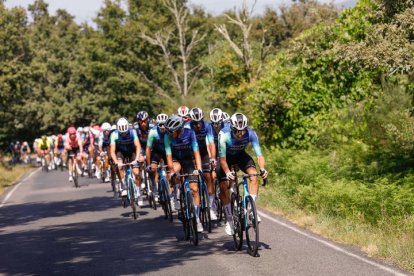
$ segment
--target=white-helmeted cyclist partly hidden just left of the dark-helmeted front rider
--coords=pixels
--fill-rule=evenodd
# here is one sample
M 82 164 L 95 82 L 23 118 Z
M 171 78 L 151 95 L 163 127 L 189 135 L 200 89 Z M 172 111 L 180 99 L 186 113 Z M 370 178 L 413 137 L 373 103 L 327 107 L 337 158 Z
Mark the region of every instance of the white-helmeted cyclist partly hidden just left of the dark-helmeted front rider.
M 164 163 L 167 162 L 164 147 L 165 121 L 167 119 L 167 114 L 158 114 L 157 124 L 149 132 L 147 147 L 145 149 L 147 170 L 150 173 L 150 177 L 154 180 L 154 183 L 158 183 L 158 164 L 161 160 Z

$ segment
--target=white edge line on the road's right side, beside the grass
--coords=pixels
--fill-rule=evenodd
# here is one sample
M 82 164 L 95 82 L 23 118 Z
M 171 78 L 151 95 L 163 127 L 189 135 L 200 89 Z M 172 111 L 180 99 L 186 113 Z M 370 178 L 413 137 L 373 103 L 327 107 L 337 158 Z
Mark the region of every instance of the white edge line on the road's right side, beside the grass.
M 267 215 L 267 214 L 265 214 L 263 212 L 258 211 L 258 213 L 260 214 L 261 217 L 265 217 L 268 220 L 271 220 L 271 221 L 273 221 L 273 222 L 275 222 L 275 223 L 277 223 L 277 224 L 279 224 L 279 225 L 281 225 L 283 227 L 286 227 L 286 228 L 288 228 L 288 229 L 290 229 L 290 230 L 292 230 L 292 231 L 294 231 L 294 232 L 296 232 L 298 234 L 301 234 L 302 236 L 305 236 L 305 237 L 307 237 L 309 239 L 312 239 L 312 240 L 315 240 L 315 241 L 317 241 L 319 243 L 322 243 L 323 245 L 325 245 L 327 247 L 330 247 L 330 248 L 332 248 L 332 249 L 334 249 L 334 250 L 336 250 L 338 252 L 341 252 L 341 253 L 343 253 L 345 255 L 348 255 L 350 257 L 353 257 L 355 259 L 358 259 L 358 260 L 360 260 L 360 261 L 362 261 L 364 263 L 367 263 L 367 264 L 370 264 L 372 266 L 375 266 L 376 268 L 382 269 L 382 270 L 387 271 L 389 273 L 392 273 L 394 275 L 407 275 L 407 274 L 401 273 L 399 271 L 396 271 L 396 270 L 394 270 L 392 268 L 386 267 L 384 265 L 378 264 L 376 262 L 373 262 L 371 260 L 368 260 L 366 258 L 363 258 L 361 256 L 358 256 L 358 255 L 356 255 L 354 253 L 351 253 L 351 252 L 349 252 L 349 251 L 347 251 L 347 250 L 345 250 L 343 248 L 340 248 L 339 246 L 336 246 L 336 245 L 334 245 L 334 244 L 332 244 L 330 242 L 327 242 L 327 241 L 324 241 L 324 240 L 319 239 L 317 237 L 314 237 L 314 236 L 312 236 L 312 235 L 310 235 L 310 234 L 308 234 L 306 232 L 303 232 L 303 231 L 301 231 L 301 230 L 299 230 L 299 229 L 297 229 L 297 228 L 295 228 L 293 226 L 290 226 L 290 225 L 284 223 L 283 221 L 280 221 L 278 219 L 275 219 L 275 218 L 273 218 L 273 217 L 271 217 L 271 216 L 269 216 L 269 215 Z

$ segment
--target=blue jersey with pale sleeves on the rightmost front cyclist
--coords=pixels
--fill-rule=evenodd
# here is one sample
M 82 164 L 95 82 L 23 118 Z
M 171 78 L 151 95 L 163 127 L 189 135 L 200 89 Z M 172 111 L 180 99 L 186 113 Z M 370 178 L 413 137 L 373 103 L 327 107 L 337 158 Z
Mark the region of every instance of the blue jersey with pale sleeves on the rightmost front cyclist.
M 219 133 L 219 157 L 226 157 L 226 155 L 236 155 L 243 152 L 247 145 L 251 143 L 256 156 L 262 155 L 259 139 L 256 132 L 252 128 L 247 128 L 246 133 L 240 140 L 236 140 L 230 127 L 227 126 Z

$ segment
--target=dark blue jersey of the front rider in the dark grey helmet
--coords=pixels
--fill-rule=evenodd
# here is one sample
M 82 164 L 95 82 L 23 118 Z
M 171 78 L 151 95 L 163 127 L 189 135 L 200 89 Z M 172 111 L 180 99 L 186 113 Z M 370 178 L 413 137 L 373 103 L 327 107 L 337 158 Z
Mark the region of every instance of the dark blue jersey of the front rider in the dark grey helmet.
M 189 128 L 182 128 L 181 137 L 177 139 L 164 135 L 164 145 L 165 153 L 177 159 L 192 159 L 194 151 L 198 150 L 195 133 Z

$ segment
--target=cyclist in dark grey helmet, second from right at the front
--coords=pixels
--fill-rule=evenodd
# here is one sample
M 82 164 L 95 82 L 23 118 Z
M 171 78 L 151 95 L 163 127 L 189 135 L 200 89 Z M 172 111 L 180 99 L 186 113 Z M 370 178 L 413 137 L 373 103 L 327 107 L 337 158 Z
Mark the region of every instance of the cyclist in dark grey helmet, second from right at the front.
M 201 172 L 202 165 L 197 138 L 192 129 L 184 127 L 183 118 L 178 115 L 169 117 L 165 122 L 165 127 L 168 135 L 164 136 L 164 145 L 167 165 L 170 172 L 177 174 L 182 170 L 184 174 L 195 174 L 195 176 L 189 177 L 189 182 L 194 197 L 197 231 L 202 232 L 203 225 L 199 218 L 200 195 L 198 193 L 197 179 L 197 175 Z M 194 160 L 196 167 L 194 166 Z M 177 184 L 177 182 L 175 184 Z M 178 209 L 178 206 L 175 207 Z

